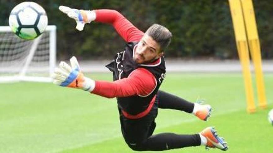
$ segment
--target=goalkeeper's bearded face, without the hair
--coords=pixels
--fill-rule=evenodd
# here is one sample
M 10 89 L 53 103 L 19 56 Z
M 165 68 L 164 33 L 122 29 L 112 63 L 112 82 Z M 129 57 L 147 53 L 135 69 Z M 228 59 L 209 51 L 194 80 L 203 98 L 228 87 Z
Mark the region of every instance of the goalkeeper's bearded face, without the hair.
M 135 48 L 133 60 L 137 64 L 148 64 L 161 56 L 163 53 L 160 51 L 160 45 L 151 36 L 145 34 Z

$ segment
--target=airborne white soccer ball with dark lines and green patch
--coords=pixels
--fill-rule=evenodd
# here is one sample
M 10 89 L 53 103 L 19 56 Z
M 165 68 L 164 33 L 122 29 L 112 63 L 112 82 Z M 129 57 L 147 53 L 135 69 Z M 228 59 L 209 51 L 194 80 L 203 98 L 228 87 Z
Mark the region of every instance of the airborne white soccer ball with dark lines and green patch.
M 41 35 L 47 27 L 47 14 L 35 2 L 22 2 L 10 14 L 11 30 L 20 38 L 31 40 Z

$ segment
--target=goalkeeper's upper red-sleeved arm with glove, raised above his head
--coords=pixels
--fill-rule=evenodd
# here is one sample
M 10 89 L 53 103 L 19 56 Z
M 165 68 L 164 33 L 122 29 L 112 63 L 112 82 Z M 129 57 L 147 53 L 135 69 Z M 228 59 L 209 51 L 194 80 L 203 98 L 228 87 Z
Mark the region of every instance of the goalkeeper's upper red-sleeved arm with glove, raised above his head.
M 59 9 L 76 21 L 76 29 L 79 31 L 83 30 L 86 23 L 96 21 L 111 24 L 126 42 L 139 41 L 144 35 L 142 31 L 115 10 L 100 9 L 87 11 L 71 9 L 67 6 L 60 6 Z

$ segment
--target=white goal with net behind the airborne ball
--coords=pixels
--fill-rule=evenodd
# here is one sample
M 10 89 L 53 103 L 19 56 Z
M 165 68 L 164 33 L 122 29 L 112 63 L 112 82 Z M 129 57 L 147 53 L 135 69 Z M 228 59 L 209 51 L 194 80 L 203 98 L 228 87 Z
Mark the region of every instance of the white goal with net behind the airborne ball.
M 51 82 L 55 66 L 55 25 L 34 40 L 22 40 L 9 26 L 0 26 L 0 83 Z

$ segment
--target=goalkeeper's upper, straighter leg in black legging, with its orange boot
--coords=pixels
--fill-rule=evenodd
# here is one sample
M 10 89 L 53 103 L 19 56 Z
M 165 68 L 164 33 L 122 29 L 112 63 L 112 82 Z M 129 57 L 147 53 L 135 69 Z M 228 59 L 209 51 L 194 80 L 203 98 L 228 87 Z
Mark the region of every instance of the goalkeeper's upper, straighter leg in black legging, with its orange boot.
M 159 90 L 157 92 L 158 107 L 181 110 L 187 113 L 193 113 L 199 119 L 207 121 L 210 117 L 212 108 L 210 105 L 201 105 L 198 103 L 191 103 L 175 95 Z

